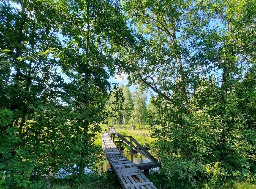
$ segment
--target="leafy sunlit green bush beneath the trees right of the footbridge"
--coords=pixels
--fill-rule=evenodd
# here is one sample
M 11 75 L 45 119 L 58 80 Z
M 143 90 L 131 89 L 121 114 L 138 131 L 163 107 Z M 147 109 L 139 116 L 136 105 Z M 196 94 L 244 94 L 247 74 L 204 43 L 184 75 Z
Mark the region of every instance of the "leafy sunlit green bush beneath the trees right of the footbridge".
M 205 180 L 206 188 L 214 188 L 223 176 L 255 180 L 255 129 L 246 124 L 242 110 L 233 118 L 236 121 L 229 121 L 232 119 L 228 116 L 229 111 L 238 113 L 240 110 L 235 110 L 231 104 L 233 95 L 227 99 L 225 115 L 218 113 L 223 104 L 200 105 L 205 101 L 203 97 L 191 98 L 189 112 L 181 115 L 171 107 L 162 107 L 171 114 L 165 116 L 161 128 L 152 125 L 153 137 L 157 138 L 161 169 L 170 182 L 177 178 L 184 187 L 187 184 L 197 187 Z M 241 101 L 245 99 L 233 103 L 240 103 L 235 105 L 239 107 Z

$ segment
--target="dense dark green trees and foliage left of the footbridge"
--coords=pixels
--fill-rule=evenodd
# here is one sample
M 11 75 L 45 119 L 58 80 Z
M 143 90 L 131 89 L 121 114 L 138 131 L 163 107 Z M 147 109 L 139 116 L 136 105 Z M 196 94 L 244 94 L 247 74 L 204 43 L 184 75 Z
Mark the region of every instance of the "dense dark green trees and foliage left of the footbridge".
M 118 4 L 21 0 L 0 6 L 1 188 L 40 187 L 32 175 L 61 168 L 82 177 L 99 159 L 93 140 L 107 116 L 107 79 L 122 66 L 113 55 L 131 41 Z

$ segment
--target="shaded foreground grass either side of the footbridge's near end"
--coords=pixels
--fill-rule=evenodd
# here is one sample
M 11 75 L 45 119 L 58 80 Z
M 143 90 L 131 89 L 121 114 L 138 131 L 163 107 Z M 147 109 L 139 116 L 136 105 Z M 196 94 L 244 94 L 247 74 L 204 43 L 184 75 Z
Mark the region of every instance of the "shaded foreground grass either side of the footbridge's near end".
M 173 183 L 167 183 L 164 180 L 165 175 L 150 173 L 149 180 L 159 189 L 184 188 L 180 180 L 176 180 Z M 88 174 L 82 180 L 77 180 L 75 177 L 70 179 L 56 179 L 53 177 L 44 178 L 45 183 L 43 188 L 46 189 L 121 189 L 121 186 L 114 174 L 107 174 L 103 172 L 101 176 L 98 174 Z M 185 184 L 185 188 L 191 188 Z M 206 189 L 203 182 L 198 183 L 199 189 Z M 207 189 L 256 189 L 255 182 L 242 182 L 235 179 L 225 180 L 224 183 L 217 183 L 215 187 Z

